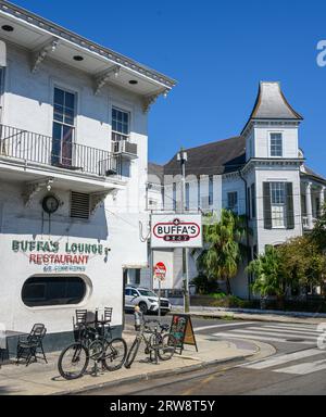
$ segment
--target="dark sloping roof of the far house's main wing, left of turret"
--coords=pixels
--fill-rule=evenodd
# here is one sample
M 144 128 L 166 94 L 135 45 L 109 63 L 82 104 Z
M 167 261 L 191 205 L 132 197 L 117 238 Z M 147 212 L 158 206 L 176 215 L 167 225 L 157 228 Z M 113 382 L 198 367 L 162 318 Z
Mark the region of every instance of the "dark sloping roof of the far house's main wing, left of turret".
M 246 164 L 246 139 L 242 136 L 187 149 L 186 175 L 222 175 Z M 177 154 L 164 165 L 164 175 L 180 174 Z

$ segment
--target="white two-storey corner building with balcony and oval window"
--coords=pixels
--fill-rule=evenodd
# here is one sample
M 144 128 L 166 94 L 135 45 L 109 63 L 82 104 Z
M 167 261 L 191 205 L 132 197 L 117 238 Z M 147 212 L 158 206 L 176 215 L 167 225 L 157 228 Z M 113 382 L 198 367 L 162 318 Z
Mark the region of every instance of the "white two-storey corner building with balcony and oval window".
M 0 321 L 63 343 L 147 266 L 147 119 L 175 81 L 0 1 Z

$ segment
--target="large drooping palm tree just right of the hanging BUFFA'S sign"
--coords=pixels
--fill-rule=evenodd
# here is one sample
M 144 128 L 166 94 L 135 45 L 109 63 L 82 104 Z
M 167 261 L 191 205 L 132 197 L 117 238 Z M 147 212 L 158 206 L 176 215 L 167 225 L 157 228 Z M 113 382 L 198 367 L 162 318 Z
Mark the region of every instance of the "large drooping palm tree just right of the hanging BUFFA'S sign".
M 220 222 L 214 215 L 208 216 L 206 220 L 204 250 L 197 258 L 198 268 L 210 280 L 225 281 L 227 293 L 231 294 L 230 279 L 237 275 L 243 253 L 246 218 L 222 210 Z

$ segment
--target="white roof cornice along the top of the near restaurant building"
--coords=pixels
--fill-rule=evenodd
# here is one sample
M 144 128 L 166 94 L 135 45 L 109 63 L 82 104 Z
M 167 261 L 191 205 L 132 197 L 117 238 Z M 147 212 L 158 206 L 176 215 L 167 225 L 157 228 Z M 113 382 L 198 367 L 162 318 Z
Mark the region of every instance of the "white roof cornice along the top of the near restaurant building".
M 92 42 L 80 35 L 77 35 L 62 26 L 57 25 L 43 17 L 34 14 L 26 9 L 20 8 L 11 2 L 0 0 L 0 13 L 12 16 L 18 21 L 23 21 L 30 26 L 37 27 L 42 31 L 48 33 L 54 37 L 63 39 L 67 42 L 74 43 L 75 46 L 83 48 L 91 53 L 100 55 L 111 63 L 117 64 L 121 67 L 136 72 L 142 77 L 152 79 L 153 81 L 161 84 L 166 89 L 172 89 L 176 85 L 176 80 L 166 77 L 165 75 L 147 67 L 146 65 L 139 64 L 138 62 L 130 60 L 111 49 L 104 48 L 96 42 Z

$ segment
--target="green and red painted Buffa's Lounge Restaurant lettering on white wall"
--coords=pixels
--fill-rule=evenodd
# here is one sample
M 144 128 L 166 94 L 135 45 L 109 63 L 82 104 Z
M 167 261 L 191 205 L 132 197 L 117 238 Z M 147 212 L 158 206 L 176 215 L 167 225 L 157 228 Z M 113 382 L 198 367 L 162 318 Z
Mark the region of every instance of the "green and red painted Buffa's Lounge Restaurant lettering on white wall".
M 35 240 L 14 240 L 12 250 L 26 254 L 29 264 L 45 266 L 45 271 L 85 270 L 91 256 L 104 255 L 110 251 L 102 244 Z M 77 266 L 82 268 L 76 268 Z

